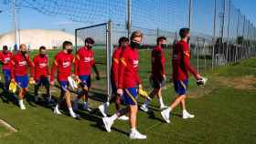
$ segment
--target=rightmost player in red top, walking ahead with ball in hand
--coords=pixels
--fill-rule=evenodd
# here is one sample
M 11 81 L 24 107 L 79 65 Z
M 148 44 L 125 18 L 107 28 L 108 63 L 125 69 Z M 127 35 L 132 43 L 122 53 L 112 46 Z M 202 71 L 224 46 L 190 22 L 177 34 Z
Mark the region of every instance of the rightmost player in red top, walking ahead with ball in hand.
M 188 45 L 190 38 L 189 28 L 180 29 L 179 36 L 181 37 L 181 40 L 173 49 L 173 82 L 178 96 L 176 97 L 175 101 L 171 103 L 169 108 L 166 108 L 161 112 L 162 117 L 167 123 L 170 123 L 170 112 L 179 104 L 183 109 L 183 118 L 195 117 L 194 115 L 189 114 L 186 109 L 188 72 L 193 74 L 193 76 L 197 79 L 197 84 L 199 84 L 201 81 L 205 81 L 205 78 L 201 77 L 195 71 L 195 69 L 190 66 L 190 52 Z

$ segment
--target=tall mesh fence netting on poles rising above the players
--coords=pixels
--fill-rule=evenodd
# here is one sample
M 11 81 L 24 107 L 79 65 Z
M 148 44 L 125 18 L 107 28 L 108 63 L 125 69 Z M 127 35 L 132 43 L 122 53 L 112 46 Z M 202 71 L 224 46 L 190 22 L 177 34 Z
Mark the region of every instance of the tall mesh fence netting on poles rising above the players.
M 191 61 L 199 71 L 255 55 L 255 26 L 231 0 L 3 0 L 2 3 L 9 9 L 32 8 L 45 15 L 65 16 L 84 26 L 111 19 L 114 45 L 119 37 L 128 36 L 135 29 L 144 32 L 145 48 L 152 48 L 157 36 L 166 36 L 172 45 L 179 28 L 191 26 Z

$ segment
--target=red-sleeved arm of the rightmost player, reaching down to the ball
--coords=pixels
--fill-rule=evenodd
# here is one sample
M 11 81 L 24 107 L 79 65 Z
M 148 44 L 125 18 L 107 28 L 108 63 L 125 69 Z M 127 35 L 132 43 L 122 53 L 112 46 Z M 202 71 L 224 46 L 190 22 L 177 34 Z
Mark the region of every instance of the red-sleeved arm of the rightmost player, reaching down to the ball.
M 189 49 L 188 49 L 188 45 L 187 45 L 187 46 L 184 46 L 184 49 L 183 49 L 183 60 L 184 60 L 184 65 L 185 65 L 186 69 L 187 69 L 196 79 L 199 79 L 199 78 L 200 78 L 200 75 L 197 73 L 197 71 L 195 70 L 195 68 L 190 65 L 190 52 L 189 52 Z

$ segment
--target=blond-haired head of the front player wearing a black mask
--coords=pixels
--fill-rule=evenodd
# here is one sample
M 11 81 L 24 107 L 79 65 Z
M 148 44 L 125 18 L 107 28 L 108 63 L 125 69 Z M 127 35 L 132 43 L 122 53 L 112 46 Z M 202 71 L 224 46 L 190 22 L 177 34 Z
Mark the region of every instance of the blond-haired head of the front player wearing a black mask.
M 130 40 L 131 40 L 130 46 L 132 48 L 139 48 L 143 41 L 143 37 L 144 37 L 144 34 L 141 31 L 139 30 L 134 31 L 130 37 Z

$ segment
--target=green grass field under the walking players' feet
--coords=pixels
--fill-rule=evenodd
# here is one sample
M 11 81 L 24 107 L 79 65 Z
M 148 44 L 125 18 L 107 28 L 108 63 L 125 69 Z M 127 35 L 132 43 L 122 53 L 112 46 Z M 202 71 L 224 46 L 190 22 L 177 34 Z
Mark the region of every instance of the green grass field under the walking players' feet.
M 49 52 L 52 58 L 56 52 Z M 31 56 L 35 55 L 34 52 Z M 102 56 L 102 55 L 99 55 Z M 147 91 L 150 75 L 150 52 L 140 51 L 140 75 Z M 98 57 L 100 60 L 102 57 Z M 166 71 L 170 74 L 170 57 L 166 54 Z M 97 59 L 97 57 L 96 57 Z M 91 94 L 90 107 L 94 112 L 80 111 L 81 119 L 73 119 L 53 114 L 51 108 L 26 103 L 27 110 L 22 111 L 11 102 L 0 101 L 0 118 L 14 126 L 18 132 L 0 137 L 0 144 L 69 144 L 69 143 L 208 143 L 233 144 L 256 143 L 256 58 L 243 60 L 238 64 L 217 67 L 213 72 L 207 71 L 204 76 L 209 78 L 206 87 L 197 87 L 191 77 L 187 109 L 196 118 L 184 120 L 180 117 L 181 110 L 176 108 L 171 123 L 166 124 L 157 108 L 157 100 L 151 104 L 152 113 L 142 111 L 138 114 L 138 129 L 147 135 L 145 140 L 131 140 L 128 137 L 129 125 L 125 121 L 117 121 L 112 132 L 107 133 L 101 125 L 101 114 L 97 106 L 101 104 L 104 91 L 104 78 L 94 86 Z M 100 66 L 104 69 L 104 66 Z M 168 78 L 170 75 L 168 75 Z M 94 80 L 93 80 L 94 81 Z M 92 83 L 93 85 L 93 83 Z M 96 84 L 95 84 L 96 85 Z M 33 95 L 33 87 L 31 94 Z M 54 97 L 59 97 L 58 88 L 54 87 Z M 43 91 L 43 90 L 42 90 Z M 99 97 L 101 95 L 101 97 Z M 73 94 L 73 97 L 75 95 Z M 173 86 L 166 83 L 163 90 L 165 103 L 175 97 Z M 97 98 L 95 98 L 97 97 Z M 95 100 L 98 99 L 98 100 Z M 141 105 L 143 98 L 138 99 Z M 114 112 L 112 105 L 110 113 Z M 0 127 L 0 135 L 2 133 Z

